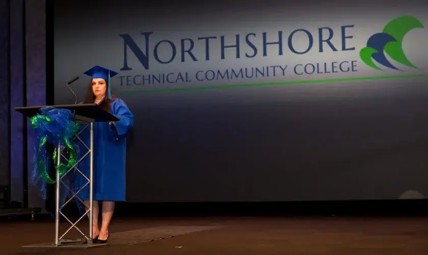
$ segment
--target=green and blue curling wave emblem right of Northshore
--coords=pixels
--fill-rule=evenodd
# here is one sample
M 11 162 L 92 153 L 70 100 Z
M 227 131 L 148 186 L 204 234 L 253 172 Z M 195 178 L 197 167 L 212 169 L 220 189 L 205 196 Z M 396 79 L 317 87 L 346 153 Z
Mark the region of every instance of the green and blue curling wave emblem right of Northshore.
M 388 56 L 397 63 L 416 68 L 403 52 L 404 37 L 416 28 L 423 28 L 423 25 L 412 16 L 400 16 L 389 21 L 382 33 L 374 34 L 367 40 L 367 47 L 360 51 L 361 60 L 374 69 L 382 70 L 373 60 L 384 67 L 399 70 L 387 59 Z

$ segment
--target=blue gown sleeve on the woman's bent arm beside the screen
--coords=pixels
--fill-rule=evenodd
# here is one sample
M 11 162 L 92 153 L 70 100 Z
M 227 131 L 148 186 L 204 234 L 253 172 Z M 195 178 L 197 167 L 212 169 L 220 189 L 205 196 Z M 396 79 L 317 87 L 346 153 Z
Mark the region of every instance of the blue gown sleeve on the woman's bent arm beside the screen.
M 133 126 L 133 114 L 122 99 L 117 98 L 111 105 L 112 114 L 119 118 L 110 125 L 110 134 L 116 138 L 125 137 Z

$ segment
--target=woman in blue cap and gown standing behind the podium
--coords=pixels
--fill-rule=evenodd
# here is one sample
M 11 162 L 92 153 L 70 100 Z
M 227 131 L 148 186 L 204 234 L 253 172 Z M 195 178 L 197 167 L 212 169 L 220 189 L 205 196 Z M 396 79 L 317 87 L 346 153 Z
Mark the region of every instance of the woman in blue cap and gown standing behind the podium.
M 95 66 L 86 71 L 92 79 L 84 104 L 97 104 L 119 118 L 116 122 L 94 123 L 94 165 L 93 165 L 93 242 L 105 243 L 109 238 L 109 225 L 113 216 L 116 201 L 125 200 L 125 157 L 126 157 L 126 135 L 133 125 L 133 115 L 125 102 L 112 95 L 110 89 L 110 78 L 117 72 Z M 79 137 L 89 147 L 89 127 L 86 127 Z M 83 145 L 80 146 L 81 157 L 88 151 Z M 78 165 L 89 178 L 89 155 Z M 77 174 L 76 188 L 81 189 L 88 180 Z M 85 201 L 89 208 L 89 185 L 79 194 L 79 198 Z M 98 224 L 99 203 L 102 202 L 101 228 Z

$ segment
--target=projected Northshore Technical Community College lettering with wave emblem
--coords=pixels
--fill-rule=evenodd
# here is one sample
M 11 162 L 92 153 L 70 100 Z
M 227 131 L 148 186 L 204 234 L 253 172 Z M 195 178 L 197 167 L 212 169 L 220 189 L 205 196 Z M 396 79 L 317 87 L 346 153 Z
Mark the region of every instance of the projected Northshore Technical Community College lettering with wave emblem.
M 291 23 L 281 31 L 264 26 L 263 30 L 245 30 L 245 33 L 236 25 L 233 31 L 224 34 L 189 33 L 173 38 L 157 31 L 121 34 L 123 62 L 119 84 L 124 91 L 134 93 L 426 76 L 420 72 L 426 69 L 427 62 L 419 61 L 416 67 L 405 54 L 409 49 L 403 47 L 410 31 L 423 28 L 414 16 L 396 17 L 376 34 L 359 27 L 358 22 L 343 23 L 340 27 L 329 23 L 315 28 L 309 25 L 299 28 Z M 363 45 L 359 45 L 359 39 L 368 37 L 366 30 L 373 35 L 369 36 L 366 47 L 360 49 Z M 407 39 L 418 43 L 412 36 Z M 416 48 L 410 50 L 412 54 L 423 54 Z M 377 72 L 412 68 L 418 73 L 409 70 L 379 75 Z

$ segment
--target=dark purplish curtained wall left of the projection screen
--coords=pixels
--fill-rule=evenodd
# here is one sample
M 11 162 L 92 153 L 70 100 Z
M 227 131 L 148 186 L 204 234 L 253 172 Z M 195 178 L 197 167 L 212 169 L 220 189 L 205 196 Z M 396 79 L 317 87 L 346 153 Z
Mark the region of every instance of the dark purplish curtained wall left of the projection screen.
M 34 132 L 14 108 L 46 104 L 46 4 L 1 1 L 0 16 L 0 207 L 41 208 L 44 201 L 27 177 L 34 163 Z

